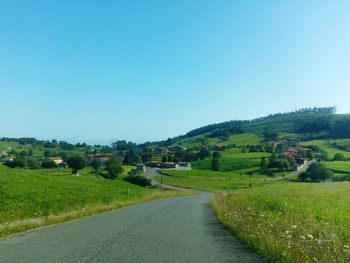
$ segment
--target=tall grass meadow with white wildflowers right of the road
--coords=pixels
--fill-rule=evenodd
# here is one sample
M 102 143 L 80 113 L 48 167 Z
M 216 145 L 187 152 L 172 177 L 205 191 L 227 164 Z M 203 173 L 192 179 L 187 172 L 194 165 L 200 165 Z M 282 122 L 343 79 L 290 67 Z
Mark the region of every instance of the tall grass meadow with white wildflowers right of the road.
M 284 183 L 217 193 L 219 219 L 273 262 L 350 260 L 350 183 Z

